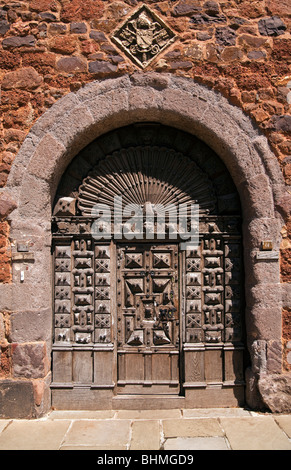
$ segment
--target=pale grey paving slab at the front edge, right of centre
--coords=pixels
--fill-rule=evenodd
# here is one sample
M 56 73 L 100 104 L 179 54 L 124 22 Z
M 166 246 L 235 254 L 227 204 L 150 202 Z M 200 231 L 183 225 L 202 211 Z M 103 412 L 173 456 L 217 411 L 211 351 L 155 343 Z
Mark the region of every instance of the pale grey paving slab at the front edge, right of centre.
M 224 437 L 177 437 L 167 439 L 164 450 L 229 450 Z

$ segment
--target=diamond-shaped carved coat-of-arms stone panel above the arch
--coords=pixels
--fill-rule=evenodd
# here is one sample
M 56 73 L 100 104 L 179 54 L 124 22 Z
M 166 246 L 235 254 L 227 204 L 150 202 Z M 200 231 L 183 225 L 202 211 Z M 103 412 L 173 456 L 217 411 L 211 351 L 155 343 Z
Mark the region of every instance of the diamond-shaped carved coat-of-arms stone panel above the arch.
M 142 5 L 114 31 L 112 40 L 145 68 L 175 40 L 175 34 L 156 13 Z

